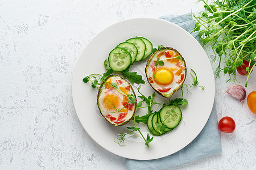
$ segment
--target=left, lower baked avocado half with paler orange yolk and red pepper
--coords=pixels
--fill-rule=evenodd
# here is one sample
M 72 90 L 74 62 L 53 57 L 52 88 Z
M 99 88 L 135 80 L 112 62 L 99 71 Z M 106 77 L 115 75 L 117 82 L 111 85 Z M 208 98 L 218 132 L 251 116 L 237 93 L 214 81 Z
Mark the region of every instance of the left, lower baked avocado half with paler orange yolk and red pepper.
M 97 104 L 102 116 L 110 124 L 125 125 L 133 117 L 137 103 L 131 103 L 127 96 L 134 96 L 136 99 L 131 84 L 119 75 L 109 75 L 101 84 Z

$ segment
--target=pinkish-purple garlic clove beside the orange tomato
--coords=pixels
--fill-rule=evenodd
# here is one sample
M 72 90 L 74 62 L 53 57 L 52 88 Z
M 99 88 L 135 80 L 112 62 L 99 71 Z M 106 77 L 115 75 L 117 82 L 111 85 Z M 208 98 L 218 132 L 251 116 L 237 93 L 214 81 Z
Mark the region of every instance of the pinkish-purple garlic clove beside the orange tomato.
M 245 88 L 238 84 L 230 86 L 225 93 L 228 93 L 233 97 L 236 97 L 238 100 L 240 100 L 240 102 L 245 100 L 245 96 L 246 96 Z

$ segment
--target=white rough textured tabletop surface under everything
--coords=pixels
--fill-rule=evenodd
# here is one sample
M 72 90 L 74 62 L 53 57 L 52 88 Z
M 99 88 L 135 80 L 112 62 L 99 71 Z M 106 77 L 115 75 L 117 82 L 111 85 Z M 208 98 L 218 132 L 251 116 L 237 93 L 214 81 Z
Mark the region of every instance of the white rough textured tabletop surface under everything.
M 77 58 L 109 24 L 191 8 L 202 10 L 202 3 L 0 0 L 0 169 L 126 169 L 125 159 L 98 146 L 77 118 L 71 96 Z M 221 133 L 223 153 L 171 169 L 256 169 L 256 114 L 223 94 L 234 84 L 225 80 L 216 79 L 217 117 L 233 117 L 237 128 Z M 245 77 L 238 80 L 243 85 Z M 256 71 L 246 90 L 256 90 Z

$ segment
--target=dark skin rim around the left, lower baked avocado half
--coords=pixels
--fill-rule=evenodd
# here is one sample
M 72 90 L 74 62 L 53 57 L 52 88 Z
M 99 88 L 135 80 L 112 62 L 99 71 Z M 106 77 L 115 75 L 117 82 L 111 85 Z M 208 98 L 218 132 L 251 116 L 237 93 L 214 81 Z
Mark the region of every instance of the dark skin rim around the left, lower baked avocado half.
M 121 78 L 122 80 L 125 80 L 124 78 L 122 78 L 121 76 L 119 76 L 119 75 L 117 75 L 117 74 L 111 74 L 111 75 L 109 75 L 109 76 L 105 79 L 105 82 L 106 82 L 109 78 L 111 78 L 112 76 L 118 76 L 118 77 Z M 126 81 L 126 80 L 125 80 L 125 81 Z M 105 82 L 103 82 L 103 83 L 101 84 L 100 90 L 98 91 L 98 95 L 97 95 L 97 106 L 98 106 L 98 110 L 100 111 L 101 115 L 105 118 L 105 120 L 108 121 L 110 124 L 112 124 L 112 125 L 114 125 L 114 126 L 122 126 L 122 125 L 125 125 L 125 124 L 127 124 L 127 123 L 131 120 L 131 118 L 133 118 L 134 113 L 135 113 L 135 111 L 136 111 L 137 102 L 134 104 L 135 109 L 134 109 L 134 112 L 133 112 L 133 116 L 131 116 L 131 118 L 130 118 L 129 120 L 126 120 L 125 122 L 123 122 L 122 124 L 119 124 L 119 125 L 114 124 L 113 122 L 110 122 L 110 121 L 102 114 L 101 109 L 100 109 L 100 106 L 99 106 L 99 103 L 100 103 L 100 102 L 99 102 L 99 98 L 100 98 L 100 94 L 101 94 L 102 90 L 104 89 L 103 86 L 104 86 Z M 126 81 L 126 82 L 127 82 L 127 81 Z M 133 87 L 131 86 L 131 84 L 130 84 L 129 82 L 127 82 L 127 83 L 128 83 L 129 86 L 131 87 L 131 90 L 133 90 Z M 136 95 L 135 95 L 134 90 L 133 90 L 133 94 L 134 94 L 135 99 L 136 99 L 136 101 L 137 101 L 137 98 L 136 98 Z

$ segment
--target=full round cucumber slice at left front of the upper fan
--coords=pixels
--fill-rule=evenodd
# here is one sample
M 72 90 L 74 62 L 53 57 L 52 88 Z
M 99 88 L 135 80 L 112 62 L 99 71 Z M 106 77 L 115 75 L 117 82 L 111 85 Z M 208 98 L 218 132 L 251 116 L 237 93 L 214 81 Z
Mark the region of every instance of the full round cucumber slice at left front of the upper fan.
M 113 71 L 123 71 L 131 65 L 131 54 L 124 48 L 116 47 L 109 53 L 109 67 Z

